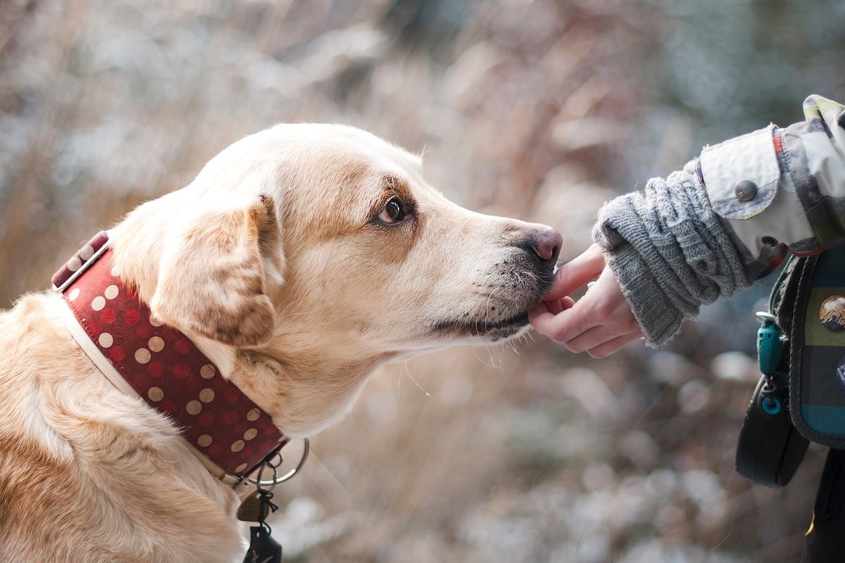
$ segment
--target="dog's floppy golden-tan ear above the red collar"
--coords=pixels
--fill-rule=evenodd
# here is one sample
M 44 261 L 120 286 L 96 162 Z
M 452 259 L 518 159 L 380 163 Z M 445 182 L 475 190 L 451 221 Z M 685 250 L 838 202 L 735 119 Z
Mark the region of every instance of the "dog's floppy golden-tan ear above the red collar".
M 165 241 L 150 300 L 155 317 L 232 346 L 259 346 L 273 335 L 270 295 L 283 283 L 275 203 L 199 214 Z

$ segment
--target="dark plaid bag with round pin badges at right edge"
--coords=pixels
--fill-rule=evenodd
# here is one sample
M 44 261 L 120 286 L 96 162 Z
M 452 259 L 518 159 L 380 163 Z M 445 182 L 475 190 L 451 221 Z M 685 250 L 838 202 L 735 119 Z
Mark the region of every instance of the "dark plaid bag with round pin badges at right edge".
M 810 441 L 845 449 L 845 247 L 788 264 L 777 295 L 789 334 L 789 412 Z

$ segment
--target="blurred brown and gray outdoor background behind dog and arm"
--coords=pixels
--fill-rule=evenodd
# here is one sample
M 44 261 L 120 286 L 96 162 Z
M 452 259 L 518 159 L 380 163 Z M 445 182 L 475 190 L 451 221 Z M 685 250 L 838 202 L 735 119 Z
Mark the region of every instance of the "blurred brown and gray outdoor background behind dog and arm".
M 615 194 L 845 100 L 843 55 L 840 0 L 3 0 L 0 306 L 276 122 L 425 149 L 450 198 L 574 257 Z M 798 560 L 824 452 L 785 490 L 733 469 L 771 282 L 660 351 L 384 367 L 276 495 L 287 560 Z

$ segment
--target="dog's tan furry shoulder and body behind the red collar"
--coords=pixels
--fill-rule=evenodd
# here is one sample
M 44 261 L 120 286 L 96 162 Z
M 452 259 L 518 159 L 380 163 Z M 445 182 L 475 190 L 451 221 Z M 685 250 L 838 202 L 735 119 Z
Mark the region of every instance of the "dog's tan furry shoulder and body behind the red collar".
M 32 294 L 0 313 L 0 560 L 234 560 L 232 491 L 97 371 L 61 306 Z

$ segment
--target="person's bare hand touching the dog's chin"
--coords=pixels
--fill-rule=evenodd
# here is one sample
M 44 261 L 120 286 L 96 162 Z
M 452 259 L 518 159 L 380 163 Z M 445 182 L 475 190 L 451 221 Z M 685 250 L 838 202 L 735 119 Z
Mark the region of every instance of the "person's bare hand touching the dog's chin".
M 588 285 L 580 300 L 569 297 L 592 279 L 596 282 Z M 570 352 L 586 351 L 593 358 L 604 358 L 642 337 L 619 282 L 596 244 L 559 268 L 552 288 L 528 317 L 538 333 L 564 344 Z

